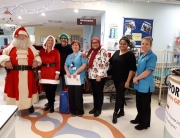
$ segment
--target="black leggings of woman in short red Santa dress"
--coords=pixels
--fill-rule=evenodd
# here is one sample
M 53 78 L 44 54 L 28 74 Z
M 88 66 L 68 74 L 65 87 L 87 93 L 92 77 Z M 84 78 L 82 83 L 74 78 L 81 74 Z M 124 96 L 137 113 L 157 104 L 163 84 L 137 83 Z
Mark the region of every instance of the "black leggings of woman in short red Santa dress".
M 43 87 L 46 93 L 46 98 L 48 100 L 48 103 L 54 106 L 57 84 L 43 84 Z

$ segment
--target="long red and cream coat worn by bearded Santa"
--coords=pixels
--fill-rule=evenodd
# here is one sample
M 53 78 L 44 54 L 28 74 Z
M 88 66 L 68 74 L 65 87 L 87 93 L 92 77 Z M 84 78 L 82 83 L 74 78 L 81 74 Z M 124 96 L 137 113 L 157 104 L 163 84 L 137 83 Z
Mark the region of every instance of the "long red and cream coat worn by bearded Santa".
M 41 65 L 41 58 L 33 46 L 27 50 L 8 46 L 3 49 L 0 64 L 5 66 L 6 61 L 9 60 L 12 65 L 32 66 L 33 61 Z M 19 110 L 27 109 L 38 101 L 38 97 L 33 70 L 10 70 L 4 88 L 4 100 L 8 105 L 17 105 Z

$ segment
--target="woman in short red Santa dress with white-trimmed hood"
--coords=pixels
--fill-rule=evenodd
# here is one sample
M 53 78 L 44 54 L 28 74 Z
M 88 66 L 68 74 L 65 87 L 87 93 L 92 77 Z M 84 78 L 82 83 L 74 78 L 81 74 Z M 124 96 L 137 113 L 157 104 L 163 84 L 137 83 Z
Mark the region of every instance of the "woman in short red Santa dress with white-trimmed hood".
M 43 43 L 43 49 L 40 50 L 40 57 L 42 59 L 42 66 L 39 72 L 39 83 L 43 84 L 48 105 L 44 109 L 54 112 L 54 99 L 57 84 L 60 74 L 60 54 L 57 49 L 54 49 L 55 38 L 51 35 L 46 37 Z

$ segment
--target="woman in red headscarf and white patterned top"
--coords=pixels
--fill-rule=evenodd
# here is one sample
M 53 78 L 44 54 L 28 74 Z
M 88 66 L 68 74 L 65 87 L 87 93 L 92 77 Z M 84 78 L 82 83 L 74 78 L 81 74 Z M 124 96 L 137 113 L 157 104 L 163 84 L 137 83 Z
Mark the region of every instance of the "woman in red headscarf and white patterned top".
M 108 53 L 101 48 L 100 40 L 97 37 L 91 40 L 91 49 L 88 52 L 88 77 L 93 90 L 94 108 L 89 114 L 97 117 L 101 114 L 104 93 L 103 88 L 107 78 L 107 69 L 109 68 Z

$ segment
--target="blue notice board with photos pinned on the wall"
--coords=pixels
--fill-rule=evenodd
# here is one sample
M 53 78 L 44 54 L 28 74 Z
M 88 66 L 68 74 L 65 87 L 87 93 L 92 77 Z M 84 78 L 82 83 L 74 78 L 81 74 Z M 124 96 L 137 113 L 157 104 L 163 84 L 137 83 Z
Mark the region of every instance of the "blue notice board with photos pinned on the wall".
M 141 39 L 152 37 L 153 20 L 124 18 L 123 35 L 132 35 L 132 39 L 136 42 L 136 47 L 141 46 Z

